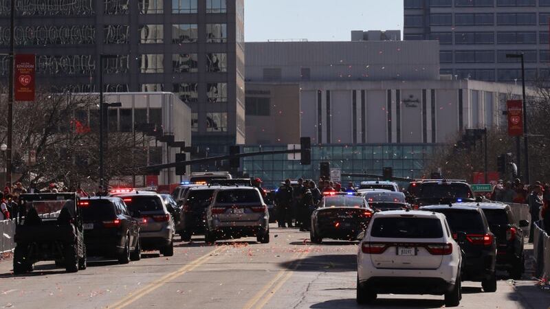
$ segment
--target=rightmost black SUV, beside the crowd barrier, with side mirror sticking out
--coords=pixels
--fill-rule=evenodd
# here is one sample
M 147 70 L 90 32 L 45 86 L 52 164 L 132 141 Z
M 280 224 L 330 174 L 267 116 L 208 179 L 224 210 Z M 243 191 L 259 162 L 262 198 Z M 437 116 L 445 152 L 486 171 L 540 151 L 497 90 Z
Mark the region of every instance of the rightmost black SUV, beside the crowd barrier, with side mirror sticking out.
M 496 268 L 508 271 L 513 279 L 521 279 L 525 271 L 522 227 L 529 221 L 516 224 L 511 207 L 501 203 L 480 203 L 489 227 L 496 237 Z

